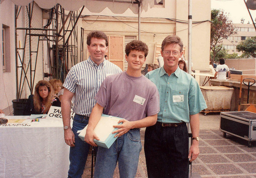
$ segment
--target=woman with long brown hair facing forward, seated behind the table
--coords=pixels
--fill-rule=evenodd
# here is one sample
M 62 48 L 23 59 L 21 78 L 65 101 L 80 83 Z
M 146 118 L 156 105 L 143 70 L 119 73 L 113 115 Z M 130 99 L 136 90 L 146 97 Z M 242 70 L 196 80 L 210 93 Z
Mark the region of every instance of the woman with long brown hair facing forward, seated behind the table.
M 35 94 L 29 96 L 24 115 L 47 114 L 50 106 L 60 106 L 60 100 L 54 96 L 51 84 L 40 80 L 35 86 Z

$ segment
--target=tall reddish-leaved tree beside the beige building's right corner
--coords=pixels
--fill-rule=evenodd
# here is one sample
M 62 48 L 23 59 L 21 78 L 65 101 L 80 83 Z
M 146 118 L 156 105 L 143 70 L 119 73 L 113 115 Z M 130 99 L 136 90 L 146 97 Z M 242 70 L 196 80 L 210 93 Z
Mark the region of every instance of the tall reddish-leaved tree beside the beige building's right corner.
M 232 20 L 228 18 L 228 14 L 223 10 L 211 10 L 210 50 L 212 51 L 212 57 L 210 57 L 210 61 L 212 65 L 215 60 L 215 56 L 222 49 L 222 47 L 219 48 L 222 43 L 222 39 L 233 34 L 236 34 L 236 30 L 232 24 Z

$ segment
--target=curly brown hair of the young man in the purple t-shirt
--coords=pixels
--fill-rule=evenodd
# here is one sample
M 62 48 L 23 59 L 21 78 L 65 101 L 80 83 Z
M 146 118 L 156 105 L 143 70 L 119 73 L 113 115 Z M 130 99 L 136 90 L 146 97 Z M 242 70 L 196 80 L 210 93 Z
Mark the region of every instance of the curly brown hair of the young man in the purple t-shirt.
M 131 52 L 131 50 L 142 51 L 142 52 L 144 52 L 144 56 L 147 57 L 148 46 L 146 45 L 146 43 L 144 43 L 142 41 L 133 40 L 133 41 L 129 42 L 125 46 L 125 53 L 127 56 L 129 56 L 129 53 Z

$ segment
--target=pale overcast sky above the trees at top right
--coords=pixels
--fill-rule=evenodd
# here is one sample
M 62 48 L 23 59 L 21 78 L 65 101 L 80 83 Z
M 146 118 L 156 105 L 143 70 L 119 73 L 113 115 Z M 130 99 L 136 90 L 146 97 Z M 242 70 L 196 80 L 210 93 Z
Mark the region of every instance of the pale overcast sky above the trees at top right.
M 223 9 L 224 12 L 229 13 L 229 18 L 233 23 L 241 23 L 241 18 L 244 18 L 244 23 L 248 23 L 249 21 L 252 24 L 244 0 L 211 0 L 211 9 Z M 249 11 L 251 12 L 254 23 L 256 23 L 256 10 L 249 9 Z

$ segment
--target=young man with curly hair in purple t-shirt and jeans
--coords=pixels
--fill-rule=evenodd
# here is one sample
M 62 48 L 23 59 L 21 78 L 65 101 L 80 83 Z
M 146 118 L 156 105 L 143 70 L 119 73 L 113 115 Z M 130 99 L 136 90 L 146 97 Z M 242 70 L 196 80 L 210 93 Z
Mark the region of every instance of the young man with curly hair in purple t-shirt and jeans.
M 146 61 L 148 47 L 145 43 L 133 40 L 126 45 L 125 58 L 128 69 L 125 72 L 106 77 L 95 99 L 96 105 L 90 115 L 84 141 L 97 146 L 93 139 L 99 140 L 94 133 L 101 114 L 124 118 L 114 125 L 118 137 L 107 149 L 98 148 L 94 178 L 113 177 L 118 161 L 120 178 L 133 178 L 137 172 L 140 142 L 140 129 L 154 125 L 159 112 L 159 93 L 153 82 L 141 74 Z

